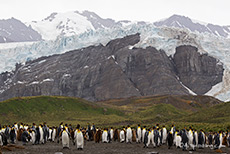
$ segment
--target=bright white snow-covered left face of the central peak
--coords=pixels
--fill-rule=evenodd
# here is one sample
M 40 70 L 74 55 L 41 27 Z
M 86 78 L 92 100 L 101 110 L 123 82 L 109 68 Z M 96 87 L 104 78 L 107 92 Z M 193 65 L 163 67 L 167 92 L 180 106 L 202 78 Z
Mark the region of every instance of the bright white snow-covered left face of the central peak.
M 79 12 L 52 13 L 42 21 L 26 23 L 45 40 L 55 40 L 59 35 L 71 36 L 94 30 L 93 25 Z

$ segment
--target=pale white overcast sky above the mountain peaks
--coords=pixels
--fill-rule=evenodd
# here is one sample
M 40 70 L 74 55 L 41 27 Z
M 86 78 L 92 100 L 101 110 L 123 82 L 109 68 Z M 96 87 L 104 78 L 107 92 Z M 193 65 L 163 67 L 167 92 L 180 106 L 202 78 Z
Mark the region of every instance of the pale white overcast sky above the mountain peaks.
M 173 14 L 230 25 L 230 0 L 0 0 L 0 19 L 42 20 L 53 12 L 89 10 L 102 18 L 156 21 Z

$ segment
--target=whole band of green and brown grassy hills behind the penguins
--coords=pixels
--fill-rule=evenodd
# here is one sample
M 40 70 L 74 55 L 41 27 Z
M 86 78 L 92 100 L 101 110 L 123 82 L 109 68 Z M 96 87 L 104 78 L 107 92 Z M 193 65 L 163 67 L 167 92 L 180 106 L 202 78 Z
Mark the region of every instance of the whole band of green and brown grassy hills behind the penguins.
M 156 123 L 169 128 L 193 126 L 197 130 L 230 128 L 230 102 L 204 96 L 156 96 L 89 102 L 62 96 L 19 97 L 0 102 L 0 124 L 60 122 L 97 126 L 151 127 Z

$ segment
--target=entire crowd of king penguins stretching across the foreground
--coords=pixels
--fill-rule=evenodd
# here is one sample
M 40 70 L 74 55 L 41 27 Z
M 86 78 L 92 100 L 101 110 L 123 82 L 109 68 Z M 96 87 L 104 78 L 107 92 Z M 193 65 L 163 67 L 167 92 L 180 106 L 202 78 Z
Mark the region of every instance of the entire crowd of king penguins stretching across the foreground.
M 141 127 L 140 124 L 136 128 L 129 125 L 122 129 L 96 128 L 93 124 L 87 128 L 81 128 L 77 125 L 60 123 L 58 127 L 49 127 L 46 123 L 31 126 L 27 124 L 17 124 L 3 126 L 0 125 L 0 147 L 9 143 L 15 144 L 21 141 L 23 145 L 31 142 L 33 145 L 45 144 L 46 142 L 61 143 L 63 149 L 69 149 L 70 142 L 76 146 L 78 150 L 83 150 L 84 142 L 95 141 L 95 143 L 111 143 L 112 141 L 121 143 L 136 142 L 143 144 L 144 148 L 153 146 L 159 147 L 163 144 L 170 149 L 172 146 L 184 150 L 195 151 L 196 148 L 220 149 L 222 147 L 230 147 L 230 132 L 204 132 L 203 130 L 189 129 L 177 130 L 174 125 L 170 130 L 165 126 L 160 127 L 159 124 L 152 128 L 146 126 Z

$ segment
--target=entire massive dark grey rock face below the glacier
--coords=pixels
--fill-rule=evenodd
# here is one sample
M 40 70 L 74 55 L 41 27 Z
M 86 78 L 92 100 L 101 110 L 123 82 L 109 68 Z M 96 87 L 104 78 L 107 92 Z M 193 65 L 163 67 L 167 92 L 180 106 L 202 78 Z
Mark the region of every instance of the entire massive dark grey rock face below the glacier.
M 105 46 L 89 46 L 18 64 L 14 72 L 0 75 L 0 100 L 63 95 L 100 101 L 186 95 L 190 90 L 203 94 L 222 81 L 223 66 L 208 55 L 200 55 L 195 47 L 180 46 L 172 58 L 154 47 L 133 47 L 139 41 L 140 34 L 135 34 Z

